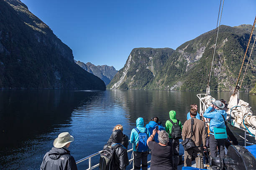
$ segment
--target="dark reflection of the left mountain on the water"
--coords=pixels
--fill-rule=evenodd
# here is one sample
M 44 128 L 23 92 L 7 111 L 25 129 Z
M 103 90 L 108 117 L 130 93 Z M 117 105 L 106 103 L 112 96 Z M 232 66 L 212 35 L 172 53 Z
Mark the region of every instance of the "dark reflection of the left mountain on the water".
M 69 128 L 74 108 L 82 100 L 88 102 L 98 94 L 63 90 L 0 91 L 0 153 L 3 155 L 0 169 L 33 167 L 36 158 L 31 159 L 31 155 L 41 161 L 38 153 L 46 147 L 45 141 L 49 143 L 56 138 L 55 131 Z M 47 145 L 51 148 L 52 143 Z M 38 165 L 35 167 L 38 169 Z

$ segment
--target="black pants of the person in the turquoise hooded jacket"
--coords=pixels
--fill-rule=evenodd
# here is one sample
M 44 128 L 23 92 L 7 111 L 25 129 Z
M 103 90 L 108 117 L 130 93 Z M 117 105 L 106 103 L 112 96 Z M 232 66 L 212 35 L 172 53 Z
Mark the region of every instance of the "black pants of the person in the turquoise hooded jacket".
M 142 165 L 142 170 L 148 169 L 148 151 L 136 152 L 133 151 L 134 157 L 134 170 L 140 170 Z

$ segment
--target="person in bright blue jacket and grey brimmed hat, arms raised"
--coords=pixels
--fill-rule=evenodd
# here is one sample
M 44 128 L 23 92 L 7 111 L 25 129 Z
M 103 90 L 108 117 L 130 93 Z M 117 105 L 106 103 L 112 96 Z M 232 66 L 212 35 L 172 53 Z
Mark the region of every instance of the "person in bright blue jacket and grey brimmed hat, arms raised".
M 204 117 L 210 119 L 210 153 L 211 157 L 215 158 L 217 157 L 217 146 L 220 150 L 220 156 L 224 158 L 225 156 L 225 139 L 215 139 L 213 128 L 223 128 L 225 127 L 225 120 L 227 119 L 227 113 L 223 108 L 225 105 L 220 100 L 215 100 L 215 102 L 212 102 L 212 105 L 210 105 L 204 113 Z M 214 111 L 211 112 L 212 108 L 214 108 Z M 223 119 L 225 118 L 225 120 Z

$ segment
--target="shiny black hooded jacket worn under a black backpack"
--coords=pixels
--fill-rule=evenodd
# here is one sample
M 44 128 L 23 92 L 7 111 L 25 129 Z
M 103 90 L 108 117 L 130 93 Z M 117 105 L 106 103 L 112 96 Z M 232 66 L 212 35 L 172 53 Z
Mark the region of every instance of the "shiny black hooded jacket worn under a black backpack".
M 113 131 L 111 135 L 112 143 L 110 145 L 114 145 L 116 143 L 122 143 L 123 132 L 121 130 Z M 127 137 L 128 138 L 128 137 Z M 104 146 L 107 147 L 108 144 Z M 113 170 L 125 170 L 126 166 L 129 164 L 127 151 L 123 146 L 119 146 L 115 149 L 115 165 Z

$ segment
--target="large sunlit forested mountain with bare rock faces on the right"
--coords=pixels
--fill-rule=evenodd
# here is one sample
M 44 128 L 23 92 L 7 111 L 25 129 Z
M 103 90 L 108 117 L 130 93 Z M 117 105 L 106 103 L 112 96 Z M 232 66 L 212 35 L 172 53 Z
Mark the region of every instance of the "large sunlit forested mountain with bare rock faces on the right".
M 251 28 L 252 25 L 220 26 L 210 81 L 211 90 L 234 89 Z M 215 30 L 211 30 L 194 40 L 185 42 L 176 50 L 135 48 L 108 88 L 205 90 L 212 61 L 214 36 Z M 253 36 L 255 37 L 255 34 Z M 253 41 L 249 51 L 252 44 Z M 241 91 L 249 91 L 255 82 L 256 50 L 254 49 Z

